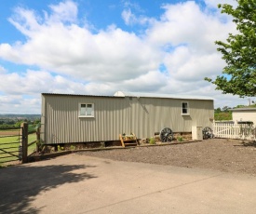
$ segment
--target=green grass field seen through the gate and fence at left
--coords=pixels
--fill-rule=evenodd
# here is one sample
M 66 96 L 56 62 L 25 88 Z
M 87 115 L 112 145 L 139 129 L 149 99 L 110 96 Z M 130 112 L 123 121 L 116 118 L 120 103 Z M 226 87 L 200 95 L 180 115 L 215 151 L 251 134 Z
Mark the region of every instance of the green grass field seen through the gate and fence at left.
M 13 157 L 7 157 L 10 156 L 11 154 L 14 155 L 19 155 L 19 146 L 20 146 L 20 140 L 21 136 L 18 130 L 8 130 L 8 131 L 0 131 L 0 165 L 1 162 L 6 162 L 6 161 L 17 161 L 18 157 L 13 156 Z M 10 136 L 10 137 L 5 137 L 5 136 Z M 30 134 L 28 136 L 28 143 L 33 142 L 36 140 L 36 135 L 35 133 Z M 8 143 L 8 144 L 5 144 Z M 36 144 L 32 144 L 31 146 L 28 147 L 28 154 L 32 154 L 35 150 Z M 4 153 L 4 151 L 10 153 Z

